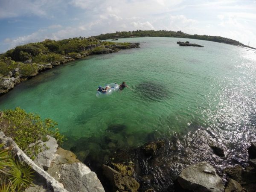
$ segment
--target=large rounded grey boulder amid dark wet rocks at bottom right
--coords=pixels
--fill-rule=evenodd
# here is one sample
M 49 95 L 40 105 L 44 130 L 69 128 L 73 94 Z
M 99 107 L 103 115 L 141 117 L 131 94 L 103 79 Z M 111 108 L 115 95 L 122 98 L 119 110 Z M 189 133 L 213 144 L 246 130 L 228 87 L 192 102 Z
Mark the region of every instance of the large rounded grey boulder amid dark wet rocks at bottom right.
M 183 189 L 194 192 L 223 192 L 224 186 L 215 169 L 207 162 L 201 162 L 184 169 L 178 182 Z

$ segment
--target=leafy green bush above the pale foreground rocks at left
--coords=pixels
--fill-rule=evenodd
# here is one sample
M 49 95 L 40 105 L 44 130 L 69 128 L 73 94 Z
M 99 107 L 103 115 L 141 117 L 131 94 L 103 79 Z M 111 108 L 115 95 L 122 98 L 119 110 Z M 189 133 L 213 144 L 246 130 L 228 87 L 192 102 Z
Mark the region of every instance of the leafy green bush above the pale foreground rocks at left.
M 41 152 L 41 145 L 38 140 L 45 141 L 46 135 L 55 137 L 59 144 L 63 143 L 64 136 L 56 128 L 57 123 L 52 119 L 41 120 L 40 116 L 34 113 L 26 113 L 20 108 L 3 111 L 0 119 L 0 130 L 7 137 L 17 143 L 32 160 Z M 34 145 L 30 145 L 34 143 Z

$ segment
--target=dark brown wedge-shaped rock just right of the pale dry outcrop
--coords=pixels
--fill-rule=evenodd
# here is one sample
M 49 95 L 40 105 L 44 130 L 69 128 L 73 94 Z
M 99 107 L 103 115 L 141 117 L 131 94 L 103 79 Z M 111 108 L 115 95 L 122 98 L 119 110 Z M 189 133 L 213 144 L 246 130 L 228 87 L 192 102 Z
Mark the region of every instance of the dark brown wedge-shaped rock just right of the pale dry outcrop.
M 122 175 L 109 166 L 102 165 L 103 175 L 108 178 L 113 187 L 112 191 L 137 192 L 140 184 L 132 177 Z

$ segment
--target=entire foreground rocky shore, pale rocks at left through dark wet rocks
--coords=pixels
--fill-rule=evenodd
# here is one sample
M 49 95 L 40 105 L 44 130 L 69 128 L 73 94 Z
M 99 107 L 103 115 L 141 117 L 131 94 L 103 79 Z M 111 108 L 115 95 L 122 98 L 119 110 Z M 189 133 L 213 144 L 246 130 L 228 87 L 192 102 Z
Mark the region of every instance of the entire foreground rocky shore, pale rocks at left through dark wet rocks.
M 35 171 L 35 186 L 26 192 L 254 192 L 256 189 L 255 134 L 243 146 L 228 148 L 227 143 L 199 128 L 139 148 L 114 151 L 104 164 L 85 160 L 90 169 L 49 136 L 47 142 L 41 142 L 43 151 L 34 161 L 3 132 L 0 143 L 13 146 L 16 158 Z

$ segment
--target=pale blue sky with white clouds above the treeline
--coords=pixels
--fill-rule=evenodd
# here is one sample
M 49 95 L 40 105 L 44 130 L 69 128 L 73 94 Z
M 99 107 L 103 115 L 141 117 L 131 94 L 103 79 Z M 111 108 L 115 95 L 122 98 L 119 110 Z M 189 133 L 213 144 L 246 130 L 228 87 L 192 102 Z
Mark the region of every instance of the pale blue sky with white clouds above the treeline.
M 0 0 L 0 53 L 116 31 L 172 30 L 256 47 L 256 0 Z

